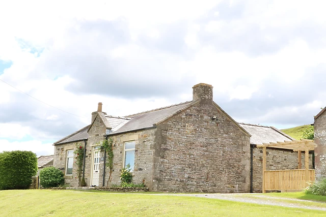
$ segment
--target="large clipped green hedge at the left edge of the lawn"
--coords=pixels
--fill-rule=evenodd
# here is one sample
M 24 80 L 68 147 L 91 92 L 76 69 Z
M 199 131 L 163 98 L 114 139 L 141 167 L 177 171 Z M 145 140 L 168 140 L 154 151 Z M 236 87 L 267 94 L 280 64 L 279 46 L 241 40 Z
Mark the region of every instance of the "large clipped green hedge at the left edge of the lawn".
M 37 157 L 32 151 L 0 153 L 0 189 L 28 189 L 37 173 Z

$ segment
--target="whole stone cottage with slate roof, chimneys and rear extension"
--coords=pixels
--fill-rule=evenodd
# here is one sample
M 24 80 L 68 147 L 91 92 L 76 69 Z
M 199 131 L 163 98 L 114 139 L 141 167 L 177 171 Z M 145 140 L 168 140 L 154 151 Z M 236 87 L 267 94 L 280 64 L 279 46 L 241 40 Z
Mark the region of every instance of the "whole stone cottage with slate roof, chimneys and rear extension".
M 86 148 L 87 185 L 106 185 L 106 158 L 99 151 L 104 139 L 114 144 L 109 184 L 119 184 L 121 170 L 130 164 L 133 183 L 150 191 L 219 193 L 261 192 L 255 144 L 292 140 L 275 128 L 236 122 L 213 102 L 213 87 L 200 83 L 193 87 L 192 101 L 125 117 L 107 115 L 99 103 L 89 126 L 54 143 L 53 166 L 65 173 L 66 183 L 80 183 L 73 153 L 80 145 Z M 271 169 L 298 166 L 293 151 L 270 149 L 268 156 L 275 161 Z

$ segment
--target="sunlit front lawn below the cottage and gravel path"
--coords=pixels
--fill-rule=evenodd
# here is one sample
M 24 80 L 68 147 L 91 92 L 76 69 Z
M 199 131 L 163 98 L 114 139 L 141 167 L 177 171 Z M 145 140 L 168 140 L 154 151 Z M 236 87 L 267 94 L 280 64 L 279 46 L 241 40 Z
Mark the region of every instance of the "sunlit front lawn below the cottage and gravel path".
M 0 216 L 326 216 L 326 213 L 168 194 L 12 190 L 0 191 Z

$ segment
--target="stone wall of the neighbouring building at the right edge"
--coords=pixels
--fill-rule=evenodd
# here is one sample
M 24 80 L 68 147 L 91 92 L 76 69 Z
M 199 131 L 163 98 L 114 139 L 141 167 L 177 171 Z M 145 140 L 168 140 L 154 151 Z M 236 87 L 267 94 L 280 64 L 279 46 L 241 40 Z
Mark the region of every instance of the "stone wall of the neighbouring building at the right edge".
M 323 112 L 314 122 L 315 174 L 316 179 L 326 178 L 326 112 Z

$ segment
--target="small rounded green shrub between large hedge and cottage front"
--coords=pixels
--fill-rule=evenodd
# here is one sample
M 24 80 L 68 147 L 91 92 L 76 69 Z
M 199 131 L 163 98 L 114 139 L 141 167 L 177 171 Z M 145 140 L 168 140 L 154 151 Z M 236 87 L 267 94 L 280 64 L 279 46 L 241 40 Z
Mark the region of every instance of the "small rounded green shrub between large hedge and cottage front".
M 40 184 L 44 188 L 59 187 L 65 182 L 63 172 L 55 167 L 45 167 L 40 172 Z

